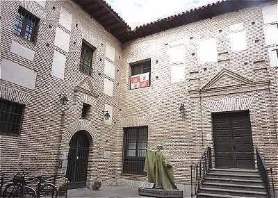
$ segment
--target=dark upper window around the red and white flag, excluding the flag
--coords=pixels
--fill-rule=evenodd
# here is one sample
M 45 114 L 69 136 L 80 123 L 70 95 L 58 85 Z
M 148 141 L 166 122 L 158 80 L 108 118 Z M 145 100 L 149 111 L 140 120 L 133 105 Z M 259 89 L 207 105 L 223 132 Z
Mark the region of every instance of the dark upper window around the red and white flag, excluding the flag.
M 138 74 L 145 74 L 149 72 L 149 86 L 151 85 L 151 59 L 140 60 L 136 63 L 130 63 L 131 67 L 131 76 Z M 131 88 L 131 76 L 129 78 L 129 88 Z

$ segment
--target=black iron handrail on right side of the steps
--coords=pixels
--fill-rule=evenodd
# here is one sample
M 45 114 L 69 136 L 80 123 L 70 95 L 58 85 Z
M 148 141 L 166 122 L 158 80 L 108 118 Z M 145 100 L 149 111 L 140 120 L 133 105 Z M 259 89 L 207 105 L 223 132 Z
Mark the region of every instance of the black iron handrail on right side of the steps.
M 263 180 L 263 185 L 265 185 L 266 193 L 268 194 L 268 198 L 276 198 L 275 196 L 275 188 L 274 188 L 274 181 L 273 181 L 273 174 L 272 174 L 272 167 L 268 170 L 268 168 L 265 166 L 265 162 L 260 154 L 260 151 L 258 147 L 256 147 L 256 167 L 259 170 L 259 173 L 261 175 L 261 179 Z M 270 175 L 268 174 L 270 172 Z M 270 189 L 270 179 L 272 184 L 272 193 Z

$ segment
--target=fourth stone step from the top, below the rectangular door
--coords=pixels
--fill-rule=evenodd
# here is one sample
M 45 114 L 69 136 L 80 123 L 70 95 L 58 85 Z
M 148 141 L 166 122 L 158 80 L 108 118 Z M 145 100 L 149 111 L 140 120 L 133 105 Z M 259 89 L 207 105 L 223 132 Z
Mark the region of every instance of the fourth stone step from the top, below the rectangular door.
M 265 192 L 263 185 L 243 185 L 243 184 L 231 184 L 231 183 L 211 183 L 204 182 L 202 188 L 222 188 L 231 190 L 247 190 L 247 191 L 257 191 Z

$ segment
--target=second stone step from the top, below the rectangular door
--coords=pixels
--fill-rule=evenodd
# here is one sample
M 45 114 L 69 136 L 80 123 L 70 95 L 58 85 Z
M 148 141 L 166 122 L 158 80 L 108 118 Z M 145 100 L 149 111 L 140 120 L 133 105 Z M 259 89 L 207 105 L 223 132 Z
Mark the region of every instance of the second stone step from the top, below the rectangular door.
M 224 178 L 224 179 L 261 179 L 261 176 L 259 174 L 229 174 L 229 173 L 217 173 L 217 172 L 208 172 L 207 176 L 211 177 L 218 177 L 218 178 Z

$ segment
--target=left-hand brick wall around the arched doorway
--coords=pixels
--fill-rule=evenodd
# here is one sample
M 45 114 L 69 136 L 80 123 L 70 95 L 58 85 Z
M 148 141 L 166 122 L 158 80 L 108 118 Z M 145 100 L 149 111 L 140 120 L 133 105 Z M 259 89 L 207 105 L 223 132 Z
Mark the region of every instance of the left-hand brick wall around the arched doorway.
M 35 44 L 13 33 L 19 6 L 40 17 Z M 61 8 L 72 14 L 70 31 L 59 24 Z M 55 46 L 56 27 L 70 34 L 68 51 Z M 92 77 L 79 72 L 83 39 L 96 47 L 93 62 L 95 70 Z M 33 61 L 11 53 L 10 47 L 13 41 L 35 51 Z M 104 94 L 104 78 L 109 78 L 104 74 L 104 60 L 107 59 L 106 43 L 111 44 L 115 49 L 115 60 L 112 62 L 117 71 L 120 68 L 119 57 L 122 56 L 120 42 L 72 1 L 47 1 L 44 7 L 35 1 L 1 1 L 0 60 L 12 60 L 22 67 L 37 72 L 35 90 L 0 79 L 1 98 L 26 104 L 20 135 L 0 134 L 0 169 L 3 172 L 9 175 L 21 170 L 22 167 L 31 167 L 30 175 L 54 174 L 57 159 L 60 158 L 62 151 L 68 152 L 72 135 L 77 131 L 85 130 L 92 137 L 88 185 L 94 179 L 101 181 L 113 179 L 115 163 L 113 158 L 104 159 L 103 151 L 106 149 L 113 153 L 116 142 L 110 137 L 113 134 L 114 124 L 104 124 L 103 110 L 105 104 L 117 108 L 119 93 L 118 74 L 115 72 L 115 80 L 111 79 L 114 81 L 113 97 Z M 51 75 L 54 50 L 66 56 L 64 79 Z M 88 83 L 92 85 L 92 90 L 88 88 Z M 76 87 L 80 89 L 76 90 Z M 66 106 L 60 105 L 59 94 L 63 93 L 69 99 Z M 88 119 L 81 119 L 83 102 L 91 105 Z M 117 119 L 117 114 L 113 115 L 113 122 Z M 58 169 L 57 172 L 65 173 L 65 170 Z

